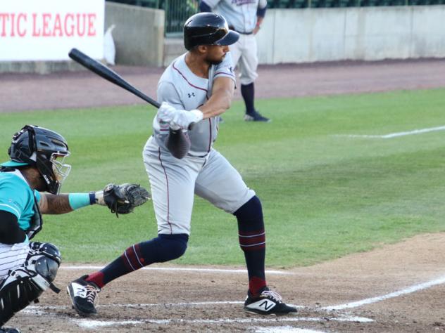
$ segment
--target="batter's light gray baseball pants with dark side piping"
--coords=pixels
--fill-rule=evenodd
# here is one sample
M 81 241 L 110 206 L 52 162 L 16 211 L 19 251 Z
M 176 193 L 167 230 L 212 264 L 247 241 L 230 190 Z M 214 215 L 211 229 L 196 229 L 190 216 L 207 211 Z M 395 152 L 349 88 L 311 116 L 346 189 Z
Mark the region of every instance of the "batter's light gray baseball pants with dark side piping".
M 176 159 L 161 151 L 151 137 L 143 156 L 160 234 L 190 234 L 194 194 L 227 213 L 234 213 L 255 195 L 214 149 L 206 157 Z

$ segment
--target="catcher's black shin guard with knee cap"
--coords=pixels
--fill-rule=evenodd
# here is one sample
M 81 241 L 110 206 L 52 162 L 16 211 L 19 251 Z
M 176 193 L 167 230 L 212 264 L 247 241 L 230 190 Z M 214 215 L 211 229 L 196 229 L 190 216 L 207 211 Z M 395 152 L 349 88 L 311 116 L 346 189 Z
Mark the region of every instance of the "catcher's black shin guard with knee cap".
M 0 285 L 0 326 L 10 320 L 15 313 L 28 306 L 50 287 L 54 292 L 60 290 L 53 285 L 61 253 L 50 243 L 30 243 L 30 253 L 25 263 L 10 270 Z

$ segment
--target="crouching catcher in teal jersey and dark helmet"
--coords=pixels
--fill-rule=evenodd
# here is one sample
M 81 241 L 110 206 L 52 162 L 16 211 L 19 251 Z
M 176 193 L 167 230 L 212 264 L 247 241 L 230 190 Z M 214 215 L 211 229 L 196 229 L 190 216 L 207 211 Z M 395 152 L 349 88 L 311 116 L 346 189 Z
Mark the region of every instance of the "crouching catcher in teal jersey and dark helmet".
M 90 204 L 119 207 L 112 191 L 120 187 L 58 194 L 71 169 L 63 162 L 70 151 L 63 136 L 39 126 L 15 133 L 8 154 L 11 160 L 0 164 L 0 333 L 18 333 L 3 325 L 46 289 L 60 291 L 53 284 L 61 264 L 58 248 L 29 241 L 42 229 L 41 214 L 64 214 Z

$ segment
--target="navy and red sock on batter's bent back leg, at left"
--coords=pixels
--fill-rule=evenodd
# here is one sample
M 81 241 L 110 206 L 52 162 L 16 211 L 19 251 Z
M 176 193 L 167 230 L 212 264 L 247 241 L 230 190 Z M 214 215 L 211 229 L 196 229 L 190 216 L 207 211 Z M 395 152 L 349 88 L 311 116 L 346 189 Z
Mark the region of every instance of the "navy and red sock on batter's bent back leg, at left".
M 151 263 L 163 263 L 177 259 L 187 249 L 189 236 L 158 235 L 146 242 L 134 244 L 125 250 L 122 256 L 116 258 L 99 272 L 90 274 L 85 280 L 94 282 L 99 288 L 122 275 L 138 270 Z

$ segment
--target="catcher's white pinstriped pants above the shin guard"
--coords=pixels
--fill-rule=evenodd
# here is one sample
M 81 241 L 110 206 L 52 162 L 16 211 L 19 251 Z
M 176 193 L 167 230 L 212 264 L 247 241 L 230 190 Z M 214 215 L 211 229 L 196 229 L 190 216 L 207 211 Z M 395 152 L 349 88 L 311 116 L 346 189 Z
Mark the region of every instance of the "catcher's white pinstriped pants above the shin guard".
M 26 243 L 0 243 L 0 282 L 8 275 L 8 270 L 19 268 L 30 252 L 30 245 Z

